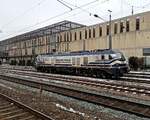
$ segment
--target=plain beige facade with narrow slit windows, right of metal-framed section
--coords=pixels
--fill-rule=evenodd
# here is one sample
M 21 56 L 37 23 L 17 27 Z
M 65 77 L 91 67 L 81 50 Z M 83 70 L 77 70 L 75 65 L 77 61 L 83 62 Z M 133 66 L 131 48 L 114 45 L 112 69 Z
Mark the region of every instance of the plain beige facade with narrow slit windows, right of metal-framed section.
M 69 51 L 109 48 L 109 23 L 101 23 L 61 33 L 71 32 Z M 112 48 L 121 50 L 127 57 L 142 57 L 145 48 L 150 48 L 150 12 L 116 19 L 111 24 Z M 71 41 L 71 42 L 70 42 Z M 68 41 L 60 41 L 59 51 L 66 51 Z

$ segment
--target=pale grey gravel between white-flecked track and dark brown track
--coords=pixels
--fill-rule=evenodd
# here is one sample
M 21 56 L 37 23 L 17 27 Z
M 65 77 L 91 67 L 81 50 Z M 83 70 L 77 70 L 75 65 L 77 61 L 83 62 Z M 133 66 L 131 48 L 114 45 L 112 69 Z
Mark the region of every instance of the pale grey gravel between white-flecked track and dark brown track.
M 5 73 L 4 73 L 5 74 Z M 13 74 L 7 74 L 9 76 L 14 76 Z M 22 78 L 22 75 L 15 75 L 15 77 L 17 78 Z M 26 78 L 26 77 L 25 77 Z M 28 77 L 27 77 L 28 78 Z M 91 93 L 94 94 L 100 94 L 100 95 L 104 95 L 104 96 L 112 96 L 112 97 L 117 97 L 123 100 L 129 100 L 129 101 L 134 101 L 137 103 L 142 103 L 142 104 L 146 104 L 146 105 L 150 105 L 150 96 L 145 95 L 145 94 L 138 94 L 136 92 L 128 92 L 128 91 L 117 91 L 118 89 L 104 89 L 104 87 L 93 87 L 93 86 L 86 86 L 86 85 L 80 85 L 80 84 L 76 84 L 76 83 L 69 83 L 69 82 L 65 82 L 65 81 L 54 81 L 54 80 L 48 80 L 48 79 L 40 79 L 37 77 L 30 77 L 32 79 L 36 79 L 39 81 L 46 81 L 48 83 L 52 83 L 55 85 L 63 85 L 64 87 L 69 87 L 69 88 L 75 88 L 77 90 L 82 90 L 82 91 L 90 91 Z M 98 80 L 98 79 L 97 79 Z M 116 81 L 113 80 L 103 80 L 105 82 L 108 83 L 115 83 Z M 119 83 L 119 82 L 118 82 Z M 122 84 L 126 84 L 128 85 L 129 82 L 125 82 L 125 81 L 120 81 L 120 85 Z M 133 83 L 133 85 L 136 85 L 136 83 Z M 140 86 L 137 83 L 137 86 Z M 143 86 L 144 87 L 144 86 Z

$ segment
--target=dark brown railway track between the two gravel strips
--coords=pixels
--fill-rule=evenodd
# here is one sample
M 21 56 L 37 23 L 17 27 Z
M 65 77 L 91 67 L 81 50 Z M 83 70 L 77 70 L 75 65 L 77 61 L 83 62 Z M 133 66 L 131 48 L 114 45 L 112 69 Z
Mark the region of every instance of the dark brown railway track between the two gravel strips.
M 103 105 L 109 108 L 118 109 L 128 113 L 133 113 L 138 116 L 150 118 L 150 105 L 136 103 L 128 100 L 122 100 L 115 97 L 104 96 L 91 91 L 79 90 L 66 85 L 53 84 L 46 81 L 33 80 L 31 77 L 18 77 L 10 75 L 0 75 L 1 79 L 16 82 L 23 85 L 28 85 L 34 88 L 62 94 L 76 99 L 84 100 L 94 104 Z M 126 89 L 127 90 L 127 89 Z

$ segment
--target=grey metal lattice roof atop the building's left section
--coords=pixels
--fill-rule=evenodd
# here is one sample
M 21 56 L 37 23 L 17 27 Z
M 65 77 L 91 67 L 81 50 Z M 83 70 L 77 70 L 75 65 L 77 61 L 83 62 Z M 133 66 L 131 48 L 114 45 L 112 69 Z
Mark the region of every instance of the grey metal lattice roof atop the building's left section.
M 52 35 L 52 34 L 56 34 L 59 32 L 81 28 L 81 27 L 85 27 L 85 25 L 64 20 L 64 21 L 61 21 L 61 22 L 58 22 L 58 23 L 55 23 L 55 24 L 52 24 L 43 28 L 39 28 L 31 32 L 27 32 L 27 33 L 17 35 L 15 37 L 0 41 L 0 43 L 5 42 L 5 41 L 11 43 L 11 42 L 19 41 L 19 40 L 34 39 L 37 37 L 41 37 L 45 35 Z

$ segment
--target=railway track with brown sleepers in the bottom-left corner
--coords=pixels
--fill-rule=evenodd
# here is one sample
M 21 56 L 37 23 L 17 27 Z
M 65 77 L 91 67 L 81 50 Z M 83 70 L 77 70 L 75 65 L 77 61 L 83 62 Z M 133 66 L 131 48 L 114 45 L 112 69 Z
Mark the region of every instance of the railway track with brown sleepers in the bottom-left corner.
M 0 120 L 54 120 L 0 93 Z

